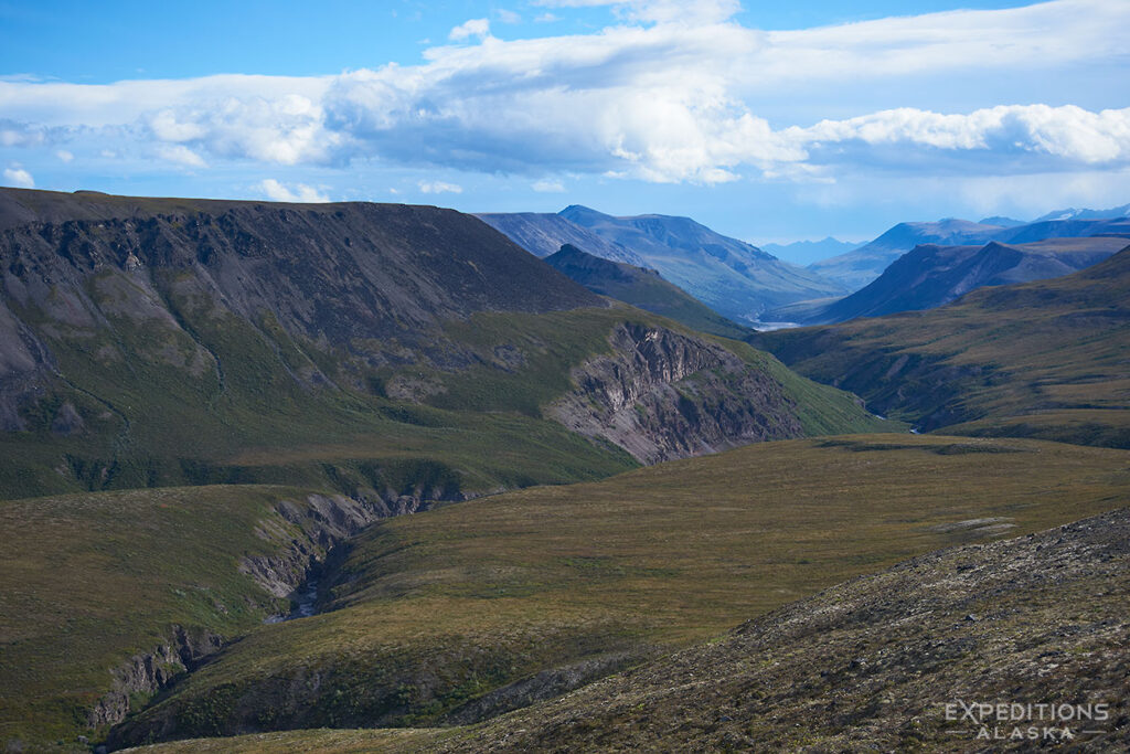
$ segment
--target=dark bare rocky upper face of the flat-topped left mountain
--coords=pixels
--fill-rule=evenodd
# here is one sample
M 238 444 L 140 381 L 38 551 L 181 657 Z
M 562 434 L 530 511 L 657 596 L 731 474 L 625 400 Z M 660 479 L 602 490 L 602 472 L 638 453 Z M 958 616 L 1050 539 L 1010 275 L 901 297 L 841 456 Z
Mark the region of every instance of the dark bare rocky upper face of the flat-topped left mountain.
M 5 198 L 11 203 L 24 193 L 6 190 Z M 58 201 L 72 215 L 89 209 L 82 198 Z M 251 321 L 269 312 L 292 335 L 334 345 L 357 338 L 419 341 L 420 331 L 436 321 L 480 311 L 601 305 L 481 222 L 453 210 L 139 201 L 144 209 L 133 214 L 28 219 L 0 232 L 5 297 L 20 307 L 34 303 L 62 324 L 104 326 L 106 312 L 85 284 L 110 276 L 116 280 L 103 285 L 121 288 L 115 313 L 175 327 L 175 312 L 164 301 L 175 285 L 212 307 Z M 63 211 L 56 207 L 51 215 Z M 0 323 L 11 319 L 6 312 Z M 14 324 L 5 330 L 0 354 L 26 370 L 31 349 L 20 347 Z

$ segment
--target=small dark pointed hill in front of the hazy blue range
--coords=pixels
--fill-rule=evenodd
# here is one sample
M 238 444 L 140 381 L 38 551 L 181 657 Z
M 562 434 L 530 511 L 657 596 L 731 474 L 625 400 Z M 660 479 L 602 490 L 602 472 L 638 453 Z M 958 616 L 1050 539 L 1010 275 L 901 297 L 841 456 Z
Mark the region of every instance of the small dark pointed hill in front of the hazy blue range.
M 692 329 L 736 339 L 749 335 L 748 328 L 731 322 L 687 295 L 655 270 L 600 259 L 570 244 L 546 257 L 545 261 L 593 293 L 669 317 Z

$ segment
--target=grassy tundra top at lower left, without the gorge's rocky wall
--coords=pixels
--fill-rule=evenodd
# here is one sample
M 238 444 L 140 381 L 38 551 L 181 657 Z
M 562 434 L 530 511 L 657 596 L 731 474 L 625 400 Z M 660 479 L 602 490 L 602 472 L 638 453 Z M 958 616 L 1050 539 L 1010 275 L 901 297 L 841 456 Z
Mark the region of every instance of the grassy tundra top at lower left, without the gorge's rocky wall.
M 107 492 L 0 502 L 0 739 L 73 740 L 110 669 L 181 625 L 233 636 L 287 608 L 237 571 L 284 487 Z M 286 544 L 286 543 L 282 543 Z

